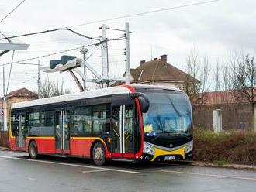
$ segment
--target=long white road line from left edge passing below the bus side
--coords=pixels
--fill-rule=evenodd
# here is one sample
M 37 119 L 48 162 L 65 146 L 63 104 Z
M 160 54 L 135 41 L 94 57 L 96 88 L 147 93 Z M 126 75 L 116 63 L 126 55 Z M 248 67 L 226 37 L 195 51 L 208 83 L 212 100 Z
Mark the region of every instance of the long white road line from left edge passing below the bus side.
M 121 172 L 121 173 L 132 173 L 132 174 L 139 174 L 140 173 L 140 172 L 137 172 L 137 171 L 130 171 L 130 170 L 118 170 L 118 169 L 103 168 L 103 167 L 100 167 L 100 166 L 84 166 L 84 165 L 78 165 L 78 164 L 74 164 L 74 163 L 60 163 L 60 162 L 46 161 L 46 160 L 22 159 L 22 158 L 15 157 L 15 156 L 0 156 L 0 158 L 18 159 L 18 160 L 23 160 L 23 161 L 33 161 L 33 162 L 38 162 L 38 163 L 49 163 L 49 164 L 56 164 L 56 165 L 62 165 L 62 166 L 77 166 L 77 167 L 96 169 L 96 170 L 110 170 L 110 171 Z

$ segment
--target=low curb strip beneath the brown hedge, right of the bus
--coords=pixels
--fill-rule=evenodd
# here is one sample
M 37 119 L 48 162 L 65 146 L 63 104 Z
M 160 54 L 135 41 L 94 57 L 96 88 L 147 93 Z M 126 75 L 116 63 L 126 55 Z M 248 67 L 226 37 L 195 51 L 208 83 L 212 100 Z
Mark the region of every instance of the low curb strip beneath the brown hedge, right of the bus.
M 220 164 L 211 162 L 201 162 L 201 161 L 186 161 L 192 166 L 209 166 L 209 167 L 221 167 L 221 168 L 232 168 L 237 170 L 256 170 L 254 165 L 240 165 L 240 164 Z

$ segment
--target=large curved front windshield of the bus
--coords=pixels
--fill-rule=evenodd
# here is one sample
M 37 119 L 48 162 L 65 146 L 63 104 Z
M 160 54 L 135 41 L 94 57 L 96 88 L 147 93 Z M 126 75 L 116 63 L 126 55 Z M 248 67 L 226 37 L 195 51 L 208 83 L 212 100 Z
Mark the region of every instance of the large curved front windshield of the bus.
M 143 91 L 150 100 L 144 113 L 146 136 L 191 134 L 192 108 L 189 98 L 178 91 Z

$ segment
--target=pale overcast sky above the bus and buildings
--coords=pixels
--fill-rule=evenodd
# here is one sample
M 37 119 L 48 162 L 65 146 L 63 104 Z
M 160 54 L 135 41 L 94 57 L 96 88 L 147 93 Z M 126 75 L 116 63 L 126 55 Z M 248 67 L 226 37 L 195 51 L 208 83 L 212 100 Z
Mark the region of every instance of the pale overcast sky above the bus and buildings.
M 0 19 L 7 15 L 21 0 L 1 0 Z M 121 15 L 147 12 L 154 9 L 186 5 L 203 0 L 26 0 L 15 12 L 0 23 L 0 30 L 5 36 L 36 32 L 44 29 L 73 26 L 100 19 Z M 137 67 L 140 60 L 150 60 L 168 54 L 168 63 L 185 70 L 185 60 L 193 46 L 200 55 L 210 58 L 212 67 L 216 61 L 225 63 L 234 50 L 254 53 L 256 46 L 256 2 L 253 0 L 220 0 L 205 5 L 196 5 L 173 9 L 148 15 L 105 22 L 112 28 L 124 29 L 125 22 L 130 23 L 130 60 L 131 67 Z M 99 26 L 95 23 L 72 29 L 88 36 L 101 36 Z M 107 31 L 109 37 L 118 37 L 120 32 Z M 21 37 L 16 42 L 29 43 L 29 50 L 17 51 L 14 61 L 36 57 L 47 53 L 86 46 L 95 41 L 81 38 L 69 32 L 45 33 L 38 36 Z M 1 41 L 4 42 L 4 41 Z M 122 75 L 124 63 L 124 41 L 109 43 L 110 74 Z M 92 57 L 88 60 L 100 70 L 100 47 L 90 48 Z M 81 57 L 79 50 L 70 53 Z M 43 58 L 42 64 L 58 59 L 61 55 Z M 0 64 L 9 63 L 12 53 L 0 57 Z M 28 63 L 37 63 L 31 60 Z M 5 68 L 7 76 L 9 67 Z M 9 91 L 21 87 L 36 90 L 36 67 L 13 65 Z M 2 95 L 2 67 L 0 67 L 0 95 Z M 50 80 L 64 80 L 65 87 L 78 91 L 70 74 L 49 74 Z M 43 74 L 47 77 L 47 74 Z M 7 79 L 7 78 L 6 78 Z

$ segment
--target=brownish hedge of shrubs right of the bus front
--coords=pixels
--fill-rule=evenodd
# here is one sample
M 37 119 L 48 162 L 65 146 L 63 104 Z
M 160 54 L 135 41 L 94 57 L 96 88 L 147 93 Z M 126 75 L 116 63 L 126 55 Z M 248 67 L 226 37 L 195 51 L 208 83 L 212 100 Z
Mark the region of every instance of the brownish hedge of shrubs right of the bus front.
M 256 164 L 256 133 L 194 130 L 194 159 L 216 163 Z

